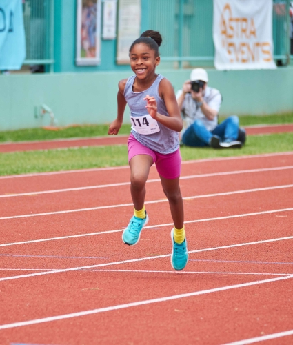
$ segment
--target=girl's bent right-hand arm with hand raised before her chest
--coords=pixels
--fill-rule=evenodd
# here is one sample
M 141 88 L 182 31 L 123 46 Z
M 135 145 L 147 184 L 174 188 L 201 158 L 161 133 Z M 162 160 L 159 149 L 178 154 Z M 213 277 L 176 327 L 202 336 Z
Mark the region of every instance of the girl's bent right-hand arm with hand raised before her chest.
M 174 89 L 170 81 L 165 78 L 161 80 L 161 83 L 159 83 L 159 96 L 165 102 L 167 112 L 170 116 L 165 116 L 156 112 L 156 99 L 154 97 L 145 97 L 145 100 L 147 101 L 145 108 L 148 109 L 150 116 L 156 119 L 160 124 L 170 128 L 171 130 L 175 130 L 176 132 L 181 132 L 183 121 L 181 119 Z

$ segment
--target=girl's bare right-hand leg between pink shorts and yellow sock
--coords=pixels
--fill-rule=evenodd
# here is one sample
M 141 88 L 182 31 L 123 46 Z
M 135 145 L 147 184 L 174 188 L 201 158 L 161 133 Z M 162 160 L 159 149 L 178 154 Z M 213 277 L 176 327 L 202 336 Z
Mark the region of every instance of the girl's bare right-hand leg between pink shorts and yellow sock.
M 165 179 L 165 177 L 160 175 L 160 179 L 165 196 L 169 201 L 174 226 L 176 229 L 181 229 L 184 225 L 184 210 L 179 177 L 176 179 Z

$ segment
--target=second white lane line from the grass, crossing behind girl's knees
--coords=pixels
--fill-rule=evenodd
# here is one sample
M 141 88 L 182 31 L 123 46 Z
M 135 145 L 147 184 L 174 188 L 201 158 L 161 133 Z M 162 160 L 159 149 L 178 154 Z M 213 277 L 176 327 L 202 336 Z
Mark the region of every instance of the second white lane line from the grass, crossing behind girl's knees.
M 277 170 L 288 170 L 293 169 L 293 166 L 277 166 L 274 168 L 261 168 L 261 169 L 248 169 L 248 170 L 235 170 L 235 171 L 226 171 L 226 172 L 212 172 L 210 174 L 200 174 L 200 175 L 187 175 L 181 176 L 180 179 L 198 179 L 203 177 L 219 177 L 225 175 L 237 175 L 237 174 L 250 174 L 252 172 L 267 172 L 267 171 L 277 171 Z M 160 179 L 149 179 L 147 183 L 160 182 Z M 3 194 L 0 195 L 0 198 L 4 197 L 23 197 L 26 195 L 41 195 L 49 193 L 63 193 L 63 192 L 73 192 L 76 190 L 88 190 L 88 189 L 97 189 L 97 188 L 110 188 L 117 186 L 129 186 L 130 182 L 120 182 L 117 184 L 98 184 L 95 186 L 85 186 L 85 187 L 74 187 L 74 188 L 63 188 L 63 189 L 54 189 L 54 190 L 41 190 L 39 192 L 26 192 L 26 193 L 14 193 L 14 194 Z

